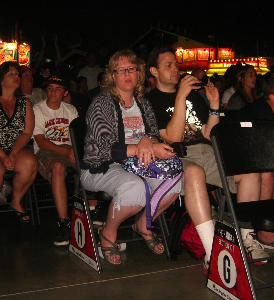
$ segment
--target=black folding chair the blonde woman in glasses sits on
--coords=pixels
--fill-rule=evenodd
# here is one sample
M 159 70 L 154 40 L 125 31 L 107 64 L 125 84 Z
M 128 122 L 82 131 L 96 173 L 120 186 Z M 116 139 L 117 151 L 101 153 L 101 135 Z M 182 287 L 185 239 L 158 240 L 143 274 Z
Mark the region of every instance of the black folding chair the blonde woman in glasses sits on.
M 86 207 L 89 207 L 88 205 L 88 200 L 87 200 L 87 194 L 86 194 L 86 190 L 83 188 L 83 186 L 81 185 L 81 181 L 80 181 L 80 176 L 81 176 L 81 169 L 80 169 L 80 159 L 82 159 L 83 154 L 84 154 L 84 138 L 86 136 L 86 122 L 84 118 L 78 117 L 76 119 L 74 119 L 70 125 L 69 125 L 69 132 L 70 132 L 70 136 L 71 136 L 71 140 L 72 140 L 72 147 L 74 150 L 74 155 L 75 155 L 75 160 L 76 160 L 76 167 L 77 167 L 77 179 L 76 179 L 76 183 L 75 183 L 75 195 L 82 197 L 83 200 L 86 203 Z M 100 192 L 99 194 L 104 194 L 102 192 Z M 95 195 L 95 198 L 97 198 Z M 104 196 L 106 197 L 106 196 Z M 94 198 L 94 199 L 95 199 Z M 110 198 L 106 197 L 106 200 L 109 201 Z M 88 214 L 88 218 L 90 218 L 90 215 Z M 161 232 L 161 236 L 162 236 L 162 240 L 163 240 L 163 244 L 165 247 L 165 251 L 167 254 L 167 258 L 170 259 L 170 251 L 168 248 L 168 243 L 167 243 L 167 236 L 169 233 L 169 229 L 167 226 L 167 222 L 165 219 L 164 214 L 161 214 L 158 218 L 157 221 L 159 223 L 159 227 L 160 227 L 160 232 Z M 89 219 L 89 223 L 92 224 L 91 219 Z M 131 228 L 131 226 L 121 226 L 119 227 L 119 229 L 121 228 Z M 92 234 L 94 234 L 94 230 L 93 228 L 91 229 Z M 133 237 L 132 239 L 127 239 L 127 240 L 122 240 L 122 243 L 127 243 L 127 242 L 132 242 L 132 241 L 138 241 L 138 240 L 142 240 L 142 237 Z

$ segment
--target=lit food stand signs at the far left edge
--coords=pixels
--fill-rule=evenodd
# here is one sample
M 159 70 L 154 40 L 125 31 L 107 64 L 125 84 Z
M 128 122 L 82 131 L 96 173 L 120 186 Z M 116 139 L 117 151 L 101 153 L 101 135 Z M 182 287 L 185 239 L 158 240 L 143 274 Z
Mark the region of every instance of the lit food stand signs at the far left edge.
M 20 66 L 30 67 L 30 45 L 0 41 L 0 64 L 6 61 L 18 63 Z

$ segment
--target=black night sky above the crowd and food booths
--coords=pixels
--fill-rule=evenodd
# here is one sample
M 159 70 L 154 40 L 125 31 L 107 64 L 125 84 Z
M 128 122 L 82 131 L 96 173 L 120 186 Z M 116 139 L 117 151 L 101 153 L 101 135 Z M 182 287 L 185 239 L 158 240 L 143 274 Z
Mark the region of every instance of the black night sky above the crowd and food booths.
M 11 38 L 11 27 L 16 21 L 23 30 L 23 40 L 39 51 L 44 35 L 48 56 L 54 55 L 53 37 L 58 34 L 62 55 L 68 52 L 67 42 L 82 39 L 82 49 L 97 53 L 127 48 L 144 34 L 152 23 L 201 42 L 209 43 L 208 35 L 215 36 L 215 45 L 232 47 L 238 54 L 274 55 L 273 5 L 269 1 L 29 1 L 5 14 L 2 11 L 0 37 Z M 167 4 L 169 3 L 169 4 Z M 205 3 L 205 2 L 204 2 Z M 211 7 L 209 7 L 209 3 Z M 216 7 L 214 4 L 218 5 Z M 260 3 L 260 5 L 258 5 Z M 229 5 L 229 6 L 228 6 Z M 267 48 L 264 48 L 266 42 Z

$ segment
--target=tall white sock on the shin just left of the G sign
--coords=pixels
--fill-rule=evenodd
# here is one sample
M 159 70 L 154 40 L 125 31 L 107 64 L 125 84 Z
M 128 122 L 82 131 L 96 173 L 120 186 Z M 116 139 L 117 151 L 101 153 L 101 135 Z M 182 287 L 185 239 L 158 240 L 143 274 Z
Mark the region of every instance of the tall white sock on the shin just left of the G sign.
M 202 241 L 202 244 L 206 250 L 206 261 L 209 261 L 211 255 L 212 243 L 213 243 L 213 236 L 214 236 L 213 220 L 206 221 L 195 227 Z

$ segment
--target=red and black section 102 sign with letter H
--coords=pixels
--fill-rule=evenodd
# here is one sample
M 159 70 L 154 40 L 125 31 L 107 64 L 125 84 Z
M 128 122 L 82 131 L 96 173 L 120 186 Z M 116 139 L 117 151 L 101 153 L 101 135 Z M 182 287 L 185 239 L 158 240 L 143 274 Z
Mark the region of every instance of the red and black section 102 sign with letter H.
M 69 251 L 100 273 L 97 263 L 100 258 L 97 258 L 94 249 L 97 244 L 92 239 L 85 203 L 76 196 L 73 196 L 73 200 Z

